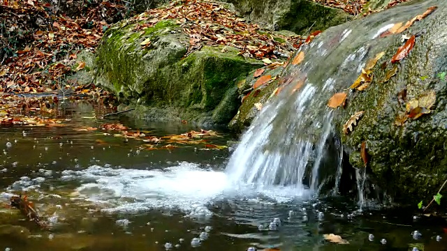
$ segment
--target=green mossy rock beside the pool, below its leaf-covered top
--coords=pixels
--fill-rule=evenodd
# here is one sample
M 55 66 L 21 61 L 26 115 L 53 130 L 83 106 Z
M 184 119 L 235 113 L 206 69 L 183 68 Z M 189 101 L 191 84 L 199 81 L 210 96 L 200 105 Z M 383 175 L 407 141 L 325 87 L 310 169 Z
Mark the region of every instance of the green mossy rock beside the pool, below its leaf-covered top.
M 142 31 L 133 31 L 136 25 L 124 21 L 105 33 L 97 50 L 96 84 L 123 102 L 137 103 L 133 114 L 142 119 L 228 123 L 237 112 L 235 81 L 263 62 L 226 46 L 205 45 L 185 57 L 189 36 L 175 20 Z M 150 45 L 142 47 L 145 40 Z

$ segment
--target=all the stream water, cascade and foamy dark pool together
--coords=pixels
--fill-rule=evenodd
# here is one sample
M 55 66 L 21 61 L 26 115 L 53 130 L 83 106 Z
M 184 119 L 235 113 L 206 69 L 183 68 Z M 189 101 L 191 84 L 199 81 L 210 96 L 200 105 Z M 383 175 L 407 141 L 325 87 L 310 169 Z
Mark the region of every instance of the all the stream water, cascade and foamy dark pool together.
M 239 142 L 219 128 L 220 137 L 178 148 L 79 130 L 105 122 L 156 137 L 200 130 L 124 117 L 97 121 L 82 103 L 64 109 L 71 119 L 64 127 L 1 128 L 0 204 L 26 192 L 49 229 L 3 208 L 0 250 L 446 250 L 445 219 L 377 202 L 359 210 L 357 201 L 337 196 L 343 151 L 327 100 L 379 52 L 376 38 L 396 16 L 335 27 L 302 47 L 305 61 L 284 70 L 286 88 Z M 365 173 L 358 175 L 363 198 Z M 323 186 L 332 196 L 318 196 Z

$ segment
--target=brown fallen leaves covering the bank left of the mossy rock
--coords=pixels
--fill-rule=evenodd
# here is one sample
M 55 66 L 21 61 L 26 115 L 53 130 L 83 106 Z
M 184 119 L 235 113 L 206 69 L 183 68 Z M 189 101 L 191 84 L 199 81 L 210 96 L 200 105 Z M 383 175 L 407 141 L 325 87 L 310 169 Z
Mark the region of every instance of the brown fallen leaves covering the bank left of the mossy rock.
M 0 0 L 1 124 L 33 125 L 37 114 L 54 115 L 55 109 L 46 108 L 47 96 L 55 103 L 57 96 L 66 93 L 75 100 L 86 96 L 108 99 L 107 91 L 92 84 L 64 82 L 64 77 L 85 68 L 78 52 L 94 51 L 108 29 L 106 21 L 122 8 L 101 1 L 72 19 L 45 1 Z

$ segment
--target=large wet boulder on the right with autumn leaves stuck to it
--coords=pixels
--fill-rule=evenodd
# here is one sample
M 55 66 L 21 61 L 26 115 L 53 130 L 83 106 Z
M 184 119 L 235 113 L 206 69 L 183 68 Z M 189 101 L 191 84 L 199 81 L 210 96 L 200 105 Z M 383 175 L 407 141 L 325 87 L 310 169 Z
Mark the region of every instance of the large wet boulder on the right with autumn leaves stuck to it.
M 383 34 L 387 29 L 397 30 L 392 28 L 401 22 L 404 26 L 413 17 L 425 13 L 430 6 L 437 6 L 437 9 L 425 18 L 419 17 L 409 29 L 394 35 Z M 327 104 L 335 93 L 346 92 L 348 97 L 344 107 L 332 112 L 333 134 L 343 144 L 344 172 L 348 174 L 358 169 L 359 186 L 366 172 L 365 178 L 374 183 L 373 187 L 381 195 L 386 194 L 404 203 L 423 200 L 427 204 L 447 179 L 445 26 L 447 2 L 412 1 L 332 27 L 302 48 L 305 59 L 298 66 L 289 63 L 290 67 L 284 70 L 279 82 L 270 83 L 270 87 L 259 87 L 256 97 L 247 96 L 232 125 L 237 129 L 244 128 L 247 121 L 258 114 L 259 105 L 254 104 L 261 102 L 261 105 L 267 107 L 263 100 L 269 100 L 276 86 L 283 86 L 286 93 L 270 98 L 268 102 L 274 102 L 274 105 L 269 107 L 280 107 L 277 99 L 281 98 L 286 98 L 284 104 L 293 105 L 290 98 L 295 96 L 289 94 L 293 87 L 281 83 L 290 82 L 288 78 L 296 79 L 296 75 L 306 77 L 306 84 L 315 87 L 312 106 L 302 116 L 302 119 L 310 119 L 309 128 L 313 124 L 318 128 L 318 121 L 324 121 L 320 118 L 332 109 Z M 412 35 L 415 35 L 416 40 L 412 50 L 408 55 L 403 53 L 404 59 L 392 63 L 393 55 L 404 46 L 404 40 L 407 41 L 406 38 Z M 361 75 L 362 68 L 367 67 L 367 61 L 381 52 L 383 56 L 372 68 L 373 77 L 369 86 L 364 86 L 363 90 L 349 90 Z M 277 124 L 273 129 L 276 135 L 287 130 L 284 123 L 295 112 L 294 107 L 282 109 L 289 109 L 290 112 L 277 110 L 283 115 L 278 121 L 272 122 L 272 125 Z M 265 114 L 271 115 L 270 112 L 272 109 Z M 364 112 L 357 123 L 347 123 L 357 112 Z M 345 125 L 351 126 L 352 130 L 346 133 Z M 318 135 L 317 131 L 309 128 L 295 130 L 306 130 L 307 134 Z M 284 137 L 290 137 L 286 133 Z M 365 142 L 368 156 L 366 169 L 361 158 L 362 142 Z M 355 178 L 356 174 L 351 177 Z

